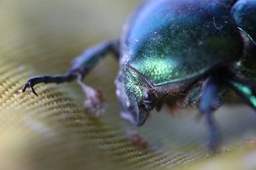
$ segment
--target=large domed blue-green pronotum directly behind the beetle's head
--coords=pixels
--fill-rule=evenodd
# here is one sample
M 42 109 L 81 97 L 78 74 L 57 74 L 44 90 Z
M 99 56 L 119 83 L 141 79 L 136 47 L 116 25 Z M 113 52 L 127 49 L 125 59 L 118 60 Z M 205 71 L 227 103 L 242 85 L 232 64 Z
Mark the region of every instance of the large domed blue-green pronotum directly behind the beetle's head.
M 152 0 L 135 13 L 123 41 L 121 65 L 155 86 L 195 79 L 243 49 L 230 9 L 207 0 Z

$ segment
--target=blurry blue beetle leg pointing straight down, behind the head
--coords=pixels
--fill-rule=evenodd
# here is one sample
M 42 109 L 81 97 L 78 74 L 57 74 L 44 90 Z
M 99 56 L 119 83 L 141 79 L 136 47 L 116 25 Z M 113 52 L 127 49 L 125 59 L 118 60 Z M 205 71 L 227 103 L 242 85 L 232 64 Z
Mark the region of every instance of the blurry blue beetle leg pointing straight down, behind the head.
M 205 116 L 208 128 L 210 130 L 208 148 L 212 152 L 216 152 L 220 142 L 220 134 L 218 128 L 212 118 L 212 112 L 216 109 L 216 105 L 220 102 L 218 91 L 220 83 L 216 77 L 208 77 L 203 86 L 203 93 L 199 101 L 199 110 Z

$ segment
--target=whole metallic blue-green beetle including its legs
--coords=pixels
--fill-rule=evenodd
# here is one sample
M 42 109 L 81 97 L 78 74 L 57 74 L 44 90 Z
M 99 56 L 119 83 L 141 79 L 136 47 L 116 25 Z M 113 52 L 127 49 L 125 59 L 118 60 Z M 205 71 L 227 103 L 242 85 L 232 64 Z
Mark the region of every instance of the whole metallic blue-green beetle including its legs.
M 256 1 L 151 0 L 133 12 L 119 40 L 102 42 L 73 60 L 65 75 L 32 77 L 38 83 L 82 80 L 112 52 L 119 57 L 115 84 L 121 117 L 141 126 L 162 103 L 194 106 L 210 130 L 208 148 L 220 135 L 212 112 L 230 89 L 256 108 Z M 178 103 L 178 104 L 177 104 Z

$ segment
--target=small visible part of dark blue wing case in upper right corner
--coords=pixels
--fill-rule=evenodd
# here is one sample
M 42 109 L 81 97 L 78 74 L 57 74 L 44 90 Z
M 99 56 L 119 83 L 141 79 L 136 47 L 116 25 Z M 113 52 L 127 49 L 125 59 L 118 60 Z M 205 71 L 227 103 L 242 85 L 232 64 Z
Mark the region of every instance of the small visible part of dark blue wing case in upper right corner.
M 238 29 L 245 32 L 256 45 L 256 1 L 237 1 L 232 7 L 231 12 Z

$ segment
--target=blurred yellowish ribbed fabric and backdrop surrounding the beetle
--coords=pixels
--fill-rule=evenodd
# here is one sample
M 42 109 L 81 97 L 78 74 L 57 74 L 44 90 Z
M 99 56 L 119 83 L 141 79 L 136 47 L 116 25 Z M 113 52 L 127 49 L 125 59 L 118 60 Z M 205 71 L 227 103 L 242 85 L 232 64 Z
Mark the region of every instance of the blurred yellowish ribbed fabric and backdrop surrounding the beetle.
M 71 60 L 119 38 L 136 0 L 0 1 L 0 169 L 256 169 L 256 115 L 234 97 L 214 116 L 220 154 L 205 150 L 207 127 L 197 110 L 152 112 L 133 127 L 119 117 L 118 62 L 106 56 L 84 82 L 106 95 L 106 114 L 84 111 L 77 83 L 36 85 L 29 77 L 65 73 Z M 230 97 L 230 98 L 231 98 Z

